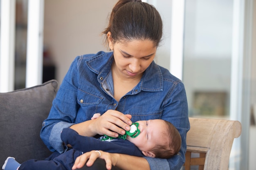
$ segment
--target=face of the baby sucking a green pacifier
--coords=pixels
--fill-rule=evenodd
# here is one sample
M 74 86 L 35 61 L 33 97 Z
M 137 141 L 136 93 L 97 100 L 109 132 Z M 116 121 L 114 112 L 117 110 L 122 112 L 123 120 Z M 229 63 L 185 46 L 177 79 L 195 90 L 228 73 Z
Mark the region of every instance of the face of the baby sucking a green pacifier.
M 166 131 L 166 124 L 161 119 L 153 120 L 141 120 L 136 121 L 139 123 L 140 134 L 132 138 L 127 136 L 127 140 L 135 144 L 139 150 L 144 152 L 151 151 L 156 144 L 165 143 L 163 139 L 163 134 Z

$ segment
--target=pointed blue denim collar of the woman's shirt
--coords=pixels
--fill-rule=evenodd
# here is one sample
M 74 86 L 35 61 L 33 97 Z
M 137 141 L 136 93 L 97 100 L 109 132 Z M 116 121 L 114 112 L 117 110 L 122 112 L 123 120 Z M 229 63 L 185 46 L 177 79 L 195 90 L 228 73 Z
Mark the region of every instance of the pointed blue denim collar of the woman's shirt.
M 86 65 L 92 72 L 98 74 L 98 81 L 102 83 L 111 73 L 113 60 L 113 52 L 100 52 L 95 57 L 87 60 Z M 154 61 L 144 71 L 140 82 L 132 89 L 131 94 L 134 95 L 140 91 L 163 91 L 163 75 Z

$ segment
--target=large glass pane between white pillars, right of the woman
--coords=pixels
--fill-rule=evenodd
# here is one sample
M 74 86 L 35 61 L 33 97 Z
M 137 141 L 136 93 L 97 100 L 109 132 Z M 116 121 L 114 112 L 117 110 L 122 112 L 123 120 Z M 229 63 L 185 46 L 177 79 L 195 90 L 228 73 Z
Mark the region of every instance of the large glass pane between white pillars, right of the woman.
M 232 0 L 187 0 L 183 82 L 190 117 L 229 117 Z

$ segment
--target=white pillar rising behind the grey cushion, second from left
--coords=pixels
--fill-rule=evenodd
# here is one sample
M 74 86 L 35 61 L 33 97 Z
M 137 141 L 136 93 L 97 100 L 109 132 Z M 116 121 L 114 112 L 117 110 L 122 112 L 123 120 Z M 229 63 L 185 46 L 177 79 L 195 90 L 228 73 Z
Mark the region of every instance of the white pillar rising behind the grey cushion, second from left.
M 44 0 L 28 1 L 26 87 L 43 79 Z

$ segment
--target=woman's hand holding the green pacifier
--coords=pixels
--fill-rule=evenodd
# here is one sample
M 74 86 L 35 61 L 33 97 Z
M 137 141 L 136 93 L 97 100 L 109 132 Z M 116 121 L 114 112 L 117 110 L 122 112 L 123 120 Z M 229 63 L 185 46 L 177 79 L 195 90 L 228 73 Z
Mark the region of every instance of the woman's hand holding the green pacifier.
M 130 130 L 132 121 L 131 115 L 124 115 L 117 110 L 108 110 L 103 115 L 92 121 L 95 134 L 108 135 L 110 137 L 118 137 L 119 134 L 124 135 L 125 130 Z

